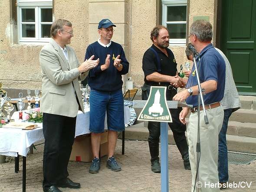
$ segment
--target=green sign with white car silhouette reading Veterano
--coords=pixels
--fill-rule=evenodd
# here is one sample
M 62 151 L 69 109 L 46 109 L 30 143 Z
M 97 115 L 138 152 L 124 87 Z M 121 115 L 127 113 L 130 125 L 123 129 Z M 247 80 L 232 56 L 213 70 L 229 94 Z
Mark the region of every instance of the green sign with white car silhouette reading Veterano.
M 165 93 L 166 87 L 151 87 L 148 101 L 143 107 L 138 120 L 172 122 Z

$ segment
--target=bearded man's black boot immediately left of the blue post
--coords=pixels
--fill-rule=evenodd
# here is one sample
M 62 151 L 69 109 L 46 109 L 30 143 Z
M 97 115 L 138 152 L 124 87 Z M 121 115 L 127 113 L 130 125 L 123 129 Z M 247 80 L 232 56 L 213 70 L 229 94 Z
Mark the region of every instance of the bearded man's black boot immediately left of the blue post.
M 161 172 L 161 166 L 159 163 L 159 145 L 151 146 L 149 144 L 149 152 L 151 156 L 151 170 L 153 172 Z

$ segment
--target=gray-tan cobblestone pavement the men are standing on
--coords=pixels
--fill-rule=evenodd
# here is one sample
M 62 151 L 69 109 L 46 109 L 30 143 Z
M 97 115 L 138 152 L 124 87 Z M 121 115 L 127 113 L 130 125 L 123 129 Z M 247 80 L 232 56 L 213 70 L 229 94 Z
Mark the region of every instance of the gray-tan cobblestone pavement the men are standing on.
M 34 154 L 27 157 L 26 191 L 41 192 L 43 179 L 43 145 L 36 146 Z M 125 141 L 125 155 L 121 155 L 121 140 L 118 140 L 116 159 L 122 166 L 120 172 L 113 172 L 105 166 L 107 156 L 102 157 L 98 174 L 88 172 L 90 163 L 69 162 L 69 178 L 80 182 L 81 189 L 62 189 L 64 192 L 112 192 L 112 191 L 161 191 L 161 174 L 150 169 L 148 142 Z M 230 164 L 230 182 L 252 182 L 250 188 L 232 188 L 222 191 L 256 191 L 256 161 L 249 165 Z M 181 155 L 175 145 L 169 145 L 169 191 L 188 192 L 191 186 L 191 172 L 184 170 Z M 0 192 L 22 191 L 22 158 L 20 172 L 14 173 L 14 162 L 0 164 Z

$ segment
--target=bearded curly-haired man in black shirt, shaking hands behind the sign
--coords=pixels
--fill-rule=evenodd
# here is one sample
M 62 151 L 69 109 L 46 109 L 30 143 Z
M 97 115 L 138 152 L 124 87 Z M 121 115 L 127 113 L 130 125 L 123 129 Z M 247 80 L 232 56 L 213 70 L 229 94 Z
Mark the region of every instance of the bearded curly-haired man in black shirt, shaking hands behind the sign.
M 174 59 L 173 52 L 168 49 L 169 33 L 166 27 L 156 26 L 151 31 L 150 39 L 153 45 L 144 53 L 142 60 L 142 69 L 144 72 L 144 85 L 142 87 L 142 100 L 147 100 L 151 86 L 167 87 L 166 98 L 172 100 L 177 94 L 177 87 L 183 86 L 182 79 L 178 76 L 177 63 Z M 172 86 L 171 86 L 172 85 Z M 184 168 L 190 169 L 188 146 L 185 136 L 186 125 L 181 124 L 179 114 L 182 108 L 170 109 L 172 123 L 168 123 L 173 135 L 175 143 L 181 153 L 184 161 Z M 160 122 L 148 122 L 148 145 L 151 155 L 151 170 L 153 172 L 161 172 L 159 163 L 159 137 Z

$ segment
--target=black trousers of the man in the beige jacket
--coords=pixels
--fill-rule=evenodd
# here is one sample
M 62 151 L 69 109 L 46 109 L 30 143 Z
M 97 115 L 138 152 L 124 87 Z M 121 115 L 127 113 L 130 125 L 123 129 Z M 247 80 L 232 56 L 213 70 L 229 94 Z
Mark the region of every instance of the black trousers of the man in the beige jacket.
M 67 166 L 75 139 L 76 117 L 43 113 L 43 189 L 69 175 Z

